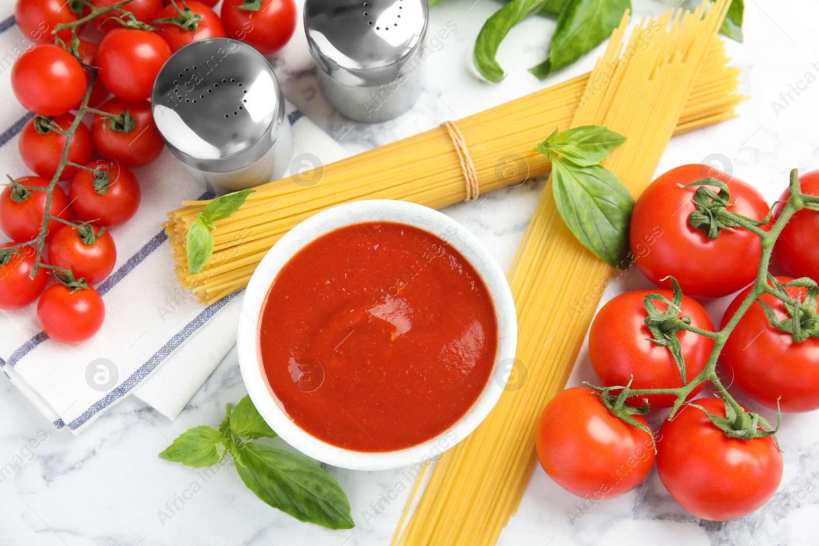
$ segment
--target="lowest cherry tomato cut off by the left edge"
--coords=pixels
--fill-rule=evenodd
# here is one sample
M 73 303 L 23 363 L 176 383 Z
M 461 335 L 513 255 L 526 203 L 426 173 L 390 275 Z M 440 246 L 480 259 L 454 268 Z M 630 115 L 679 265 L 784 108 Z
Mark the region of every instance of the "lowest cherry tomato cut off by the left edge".
M 16 243 L 0 243 L 0 248 L 9 248 Z M 29 275 L 34 270 L 37 259 L 37 247 L 24 246 L 14 254 L 3 256 L 0 253 L 0 309 L 22 309 L 33 304 L 48 282 L 48 270 L 39 268 L 32 279 Z M 5 260 L 5 264 L 3 261 Z

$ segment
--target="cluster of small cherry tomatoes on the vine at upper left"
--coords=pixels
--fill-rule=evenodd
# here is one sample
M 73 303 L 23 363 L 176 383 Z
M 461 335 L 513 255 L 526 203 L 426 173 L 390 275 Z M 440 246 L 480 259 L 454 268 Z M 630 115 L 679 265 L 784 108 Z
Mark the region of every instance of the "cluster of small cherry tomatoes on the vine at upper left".
M 102 282 L 114 268 L 116 247 L 109 230 L 139 208 L 140 186 L 130 169 L 148 165 L 164 148 L 147 100 L 162 65 L 172 52 L 205 38 L 230 36 L 260 52 L 274 52 L 295 29 L 292 0 L 224 0 L 221 18 L 211 9 L 217 1 L 127 2 L 120 9 L 130 16 L 107 11 L 77 25 L 77 35 L 84 25 L 96 29 L 84 37 L 102 34 L 94 43 L 75 41 L 71 29 L 52 31 L 116 0 L 18 0 L 17 25 L 36 45 L 15 62 L 11 86 L 20 103 L 35 114 L 19 143 L 20 156 L 34 175 L 11 179 L 0 192 L 0 229 L 11 239 L 0 244 L 0 309 L 38 301 L 43 332 L 64 343 L 85 341 L 102 327 L 102 296 L 88 285 Z M 88 90 L 93 73 L 97 79 Z M 66 142 L 75 122 L 71 111 L 87 92 L 88 108 L 93 109 L 90 129 L 80 122 Z M 45 188 L 64 151 L 68 163 L 48 201 Z M 38 246 L 2 249 L 41 241 L 47 206 L 53 218 L 42 239 L 47 246 L 40 250 L 39 263 L 45 267 L 32 278 Z M 48 273 L 59 282 L 48 287 Z

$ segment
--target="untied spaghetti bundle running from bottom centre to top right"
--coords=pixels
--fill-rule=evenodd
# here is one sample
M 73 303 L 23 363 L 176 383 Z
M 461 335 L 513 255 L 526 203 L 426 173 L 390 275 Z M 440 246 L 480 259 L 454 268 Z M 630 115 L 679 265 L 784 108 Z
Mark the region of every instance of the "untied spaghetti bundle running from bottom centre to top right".
M 692 97 L 699 101 L 717 86 L 719 97 L 705 99 L 717 103 L 735 89 L 719 79 L 709 79 L 704 89 L 694 83 L 709 66 L 726 70 L 712 56 L 728 4 L 718 0 L 708 9 L 704 4 L 693 13 L 643 20 L 627 41 L 624 16 L 587 80 L 571 124 L 604 125 L 627 136 L 604 165 L 634 196 L 651 181 Z M 490 546 L 518 508 L 536 463 L 536 420 L 565 386 L 600 287 L 612 273 L 577 242 L 555 208 L 549 181 L 509 273 L 518 312 L 517 359 L 529 372 L 527 385 L 505 391 L 486 421 L 446 453 L 450 463 L 432 471 L 394 544 Z

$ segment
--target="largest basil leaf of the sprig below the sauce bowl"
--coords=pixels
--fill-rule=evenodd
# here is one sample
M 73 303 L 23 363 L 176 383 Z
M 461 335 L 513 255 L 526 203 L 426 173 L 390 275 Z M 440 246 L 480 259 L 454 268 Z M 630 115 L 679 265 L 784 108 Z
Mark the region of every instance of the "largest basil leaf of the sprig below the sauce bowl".
M 355 526 L 350 502 L 338 482 L 309 459 L 252 442 L 238 450 L 245 464 L 236 467 L 239 476 L 265 503 L 328 529 Z

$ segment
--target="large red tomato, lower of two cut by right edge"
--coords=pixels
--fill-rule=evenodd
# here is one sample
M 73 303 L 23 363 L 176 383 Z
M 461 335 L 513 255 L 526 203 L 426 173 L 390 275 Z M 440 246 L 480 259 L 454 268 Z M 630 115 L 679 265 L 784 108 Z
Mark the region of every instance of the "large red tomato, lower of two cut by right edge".
M 780 282 L 792 280 L 778 278 Z M 788 287 L 788 294 L 801 300 L 807 290 Z M 722 327 L 734 316 L 751 288 L 740 293 L 726 309 Z M 780 320 L 788 318 L 785 305 L 767 294 L 760 297 Z M 819 339 L 797 343 L 780 332 L 767 319 L 758 301 L 737 323 L 722 348 L 720 363 L 726 368 L 726 378 L 754 400 L 776 409 L 780 396 L 783 412 L 808 412 L 819 408 Z

